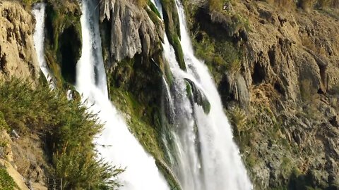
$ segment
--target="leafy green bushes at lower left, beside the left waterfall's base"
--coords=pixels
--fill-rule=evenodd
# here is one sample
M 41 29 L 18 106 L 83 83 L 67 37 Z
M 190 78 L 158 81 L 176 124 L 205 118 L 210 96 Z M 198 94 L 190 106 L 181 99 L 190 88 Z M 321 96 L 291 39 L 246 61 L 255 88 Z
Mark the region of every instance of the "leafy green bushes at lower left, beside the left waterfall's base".
M 115 189 L 111 177 L 122 170 L 97 160 L 93 138 L 102 129 L 96 116 L 87 113 L 77 99 L 68 101 L 66 91 L 50 91 L 47 84 L 33 89 L 25 80 L 0 82 L 0 112 L 21 135 L 40 134 L 47 139 L 54 170 L 64 179 L 64 189 Z M 47 153 L 48 155 L 48 153 Z

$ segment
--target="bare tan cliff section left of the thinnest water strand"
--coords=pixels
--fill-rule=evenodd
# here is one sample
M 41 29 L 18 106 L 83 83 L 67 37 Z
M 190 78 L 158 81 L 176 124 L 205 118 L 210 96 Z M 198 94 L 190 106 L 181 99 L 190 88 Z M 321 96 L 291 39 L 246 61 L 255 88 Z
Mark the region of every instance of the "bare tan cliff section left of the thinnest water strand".
M 34 18 L 12 1 L 0 1 L 0 13 L 0 78 L 15 75 L 35 82 L 40 70 L 33 43 Z

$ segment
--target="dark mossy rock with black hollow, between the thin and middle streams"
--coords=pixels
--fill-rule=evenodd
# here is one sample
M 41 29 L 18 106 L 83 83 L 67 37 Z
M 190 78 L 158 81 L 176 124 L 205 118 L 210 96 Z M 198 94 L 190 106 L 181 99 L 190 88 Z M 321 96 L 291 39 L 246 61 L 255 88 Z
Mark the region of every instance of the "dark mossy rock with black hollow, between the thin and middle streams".
M 47 1 L 47 64 L 57 84 L 76 82 L 76 63 L 81 57 L 81 8 L 77 1 Z

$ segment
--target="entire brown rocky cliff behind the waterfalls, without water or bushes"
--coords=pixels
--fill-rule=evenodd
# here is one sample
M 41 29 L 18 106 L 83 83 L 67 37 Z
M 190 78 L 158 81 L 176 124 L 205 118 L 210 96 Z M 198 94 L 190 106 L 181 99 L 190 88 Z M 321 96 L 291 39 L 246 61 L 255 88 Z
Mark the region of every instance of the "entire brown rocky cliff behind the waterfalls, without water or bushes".
M 163 151 L 160 106 L 162 77 L 172 80 L 162 59 L 164 32 L 185 69 L 174 1 L 162 1 L 165 25 L 150 2 L 99 2 L 111 99 L 177 186 Z M 215 77 L 255 189 L 338 189 L 338 8 L 304 10 L 281 2 L 186 0 L 184 6 L 196 56 Z M 75 82 L 81 56 L 80 6 L 72 0 L 47 4 L 47 63 L 65 87 Z M 0 1 L 0 12 L 1 80 L 15 75 L 36 82 L 32 15 L 13 1 Z M 43 184 L 41 139 L 5 136 L 11 144 L 2 150 L 6 159 Z

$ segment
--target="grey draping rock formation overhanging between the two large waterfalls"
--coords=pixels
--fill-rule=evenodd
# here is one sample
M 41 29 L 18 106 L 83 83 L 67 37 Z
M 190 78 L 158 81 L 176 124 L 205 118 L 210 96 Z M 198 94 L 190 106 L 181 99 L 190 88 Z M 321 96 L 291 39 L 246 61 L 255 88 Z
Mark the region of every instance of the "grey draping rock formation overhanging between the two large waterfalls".
M 140 53 L 149 56 L 161 49 L 164 29 L 160 20 L 151 20 L 145 9 L 131 1 L 100 1 L 100 20 L 110 23 L 109 51 L 113 62 Z

